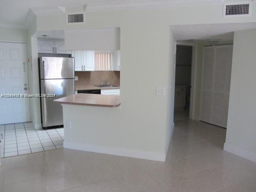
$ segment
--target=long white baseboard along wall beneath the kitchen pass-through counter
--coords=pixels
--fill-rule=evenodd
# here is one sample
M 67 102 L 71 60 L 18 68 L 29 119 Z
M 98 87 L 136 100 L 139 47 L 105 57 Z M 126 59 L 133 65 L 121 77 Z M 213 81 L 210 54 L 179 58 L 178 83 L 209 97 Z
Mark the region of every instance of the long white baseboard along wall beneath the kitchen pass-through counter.
M 165 161 L 164 153 L 154 153 L 154 152 L 130 150 L 130 149 L 124 149 L 124 148 L 90 145 L 90 144 L 78 143 L 78 142 L 72 142 L 72 141 L 64 141 L 63 147 L 69 148 L 69 149 L 75 149 L 75 150 L 110 154 L 110 155 L 118 155 L 118 156 L 148 159 L 148 160 L 154 160 L 154 161 L 163 161 L 163 162 Z

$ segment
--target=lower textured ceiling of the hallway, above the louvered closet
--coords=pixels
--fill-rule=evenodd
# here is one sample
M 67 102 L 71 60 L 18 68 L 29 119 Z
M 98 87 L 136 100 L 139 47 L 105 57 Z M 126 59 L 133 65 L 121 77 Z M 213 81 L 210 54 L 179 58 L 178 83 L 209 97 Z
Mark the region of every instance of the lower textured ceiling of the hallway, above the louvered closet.
M 234 31 L 256 28 L 256 22 L 226 23 L 202 25 L 173 25 L 170 26 L 177 40 L 204 40 L 218 38 L 230 41 L 234 38 Z

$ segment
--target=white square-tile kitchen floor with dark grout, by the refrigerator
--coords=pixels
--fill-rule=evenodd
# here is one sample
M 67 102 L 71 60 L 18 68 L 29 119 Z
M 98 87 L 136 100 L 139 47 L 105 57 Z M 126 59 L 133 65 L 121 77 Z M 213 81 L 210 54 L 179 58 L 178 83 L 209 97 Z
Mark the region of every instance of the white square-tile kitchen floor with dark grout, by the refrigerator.
M 17 156 L 63 147 L 63 128 L 34 130 L 31 122 L 0 125 L 1 157 Z

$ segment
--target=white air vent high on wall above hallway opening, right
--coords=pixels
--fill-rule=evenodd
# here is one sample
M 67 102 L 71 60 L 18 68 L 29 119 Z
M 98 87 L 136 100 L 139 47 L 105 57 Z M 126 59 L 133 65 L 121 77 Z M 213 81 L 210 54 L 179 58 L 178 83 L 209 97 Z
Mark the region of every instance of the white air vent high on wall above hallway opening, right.
M 252 2 L 225 3 L 223 17 L 251 16 Z

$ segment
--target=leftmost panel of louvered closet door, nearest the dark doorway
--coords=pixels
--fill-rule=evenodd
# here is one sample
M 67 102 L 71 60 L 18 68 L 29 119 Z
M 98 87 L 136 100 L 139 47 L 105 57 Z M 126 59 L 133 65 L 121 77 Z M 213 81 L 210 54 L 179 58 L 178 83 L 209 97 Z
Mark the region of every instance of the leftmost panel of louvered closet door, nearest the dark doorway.
M 204 47 L 202 74 L 202 99 L 200 120 L 210 122 L 212 110 L 212 79 L 214 70 L 214 47 Z

